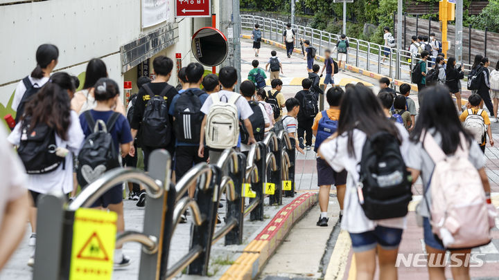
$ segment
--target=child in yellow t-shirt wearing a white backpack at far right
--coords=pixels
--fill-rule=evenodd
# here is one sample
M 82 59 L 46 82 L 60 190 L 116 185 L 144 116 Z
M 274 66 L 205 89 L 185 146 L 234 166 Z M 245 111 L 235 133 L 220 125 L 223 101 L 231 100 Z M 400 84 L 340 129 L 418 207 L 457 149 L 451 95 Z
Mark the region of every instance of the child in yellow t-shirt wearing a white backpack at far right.
M 494 144 L 492 138 L 491 121 L 489 119 L 489 114 L 487 114 L 486 111 L 480 109 L 483 106 L 482 97 L 480 97 L 480 95 L 473 93 L 468 98 L 468 102 L 469 102 L 469 109 L 464 110 L 464 112 L 462 112 L 462 114 L 459 116 L 459 120 L 461 120 L 461 122 L 464 122 L 465 129 L 469 129 L 468 122 L 466 119 L 470 115 L 480 115 L 482 117 L 480 119 L 480 122 L 483 122 L 484 127 L 487 128 L 487 133 L 482 133 L 480 131 L 480 133 L 482 133 L 481 136 L 482 140 L 480 140 L 479 144 L 480 144 L 480 149 L 482 149 L 482 152 L 485 153 L 485 146 L 487 145 L 487 135 L 489 135 L 489 142 L 492 147 Z M 470 131 L 473 131 L 473 129 L 470 129 Z M 480 138 L 480 135 L 475 136 L 475 138 Z

